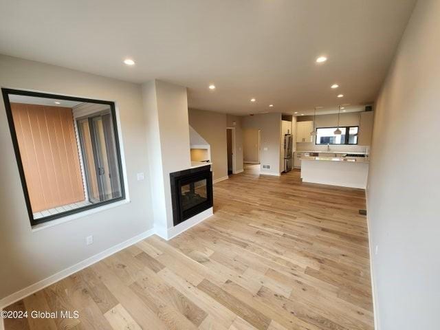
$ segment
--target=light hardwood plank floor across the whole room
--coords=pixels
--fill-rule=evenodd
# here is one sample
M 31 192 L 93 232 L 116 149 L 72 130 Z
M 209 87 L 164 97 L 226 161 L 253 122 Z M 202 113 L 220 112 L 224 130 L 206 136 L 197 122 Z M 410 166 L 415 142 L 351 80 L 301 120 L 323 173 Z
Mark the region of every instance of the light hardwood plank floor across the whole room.
M 5 329 L 373 329 L 364 192 L 247 167 L 214 185 L 210 219 L 8 307 L 80 318 L 5 320 Z

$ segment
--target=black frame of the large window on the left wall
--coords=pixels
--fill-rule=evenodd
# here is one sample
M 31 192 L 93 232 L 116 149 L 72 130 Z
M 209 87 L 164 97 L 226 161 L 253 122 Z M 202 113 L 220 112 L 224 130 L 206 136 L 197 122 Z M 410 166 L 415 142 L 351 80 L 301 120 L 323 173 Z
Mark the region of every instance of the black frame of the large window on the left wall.
M 6 116 L 8 118 L 8 124 L 9 124 L 10 134 L 11 134 L 11 138 L 12 138 L 12 145 L 14 147 L 14 153 L 15 153 L 15 158 L 17 160 L 17 166 L 19 168 L 21 186 L 23 188 L 26 208 L 28 209 L 28 217 L 29 217 L 31 226 L 39 225 L 41 223 L 46 223 L 48 221 L 67 217 L 69 215 L 84 212 L 86 210 L 91 210 L 93 208 L 99 208 L 100 206 L 104 206 L 104 205 L 111 204 L 111 203 L 116 203 L 118 201 L 122 201 L 122 200 L 126 199 L 125 184 L 124 184 L 124 172 L 123 172 L 123 167 L 122 167 L 122 155 L 121 155 L 120 141 L 119 141 L 119 134 L 118 134 L 118 122 L 117 122 L 116 111 L 115 111 L 115 102 L 105 101 L 105 100 L 94 100 L 91 98 L 77 98 L 74 96 L 48 94 L 48 93 L 41 93 L 41 92 L 35 92 L 35 91 L 26 91 L 26 90 L 21 90 L 21 89 L 9 89 L 9 88 L 2 88 L 1 94 L 3 95 L 3 102 L 5 103 L 5 110 L 6 110 Z M 115 136 L 116 155 L 117 155 L 117 159 L 118 159 L 118 171 L 119 171 L 119 177 L 120 177 L 121 196 L 115 197 L 113 199 L 109 199 L 107 201 L 98 201 L 96 203 L 93 203 L 93 204 L 90 204 L 87 206 L 81 206 L 80 208 L 76 208 L 74 210 L 67 210 L 65 212 L 51 214 L 47 217 L 41 217 L 38 219 L 34 219 L 34 214 L 32 212 L 32 206 L 30 203 L 28 186 L 26 184 L 26 179 L 25 179 L 23 162 L 21 160 L 19 143 L 17 140 L 17 132 L 15 131 L 15 126 L 14 126 L 14 118 L 12 117 L 12 110 L 11 110 L 11 105 L 10 105 L 10 100 L 9 100 L 10 95 L 32 96 L 32 97 L 39 97 L 39 98 L 52 98 L 52 99 L 56 99 L 56 100 L 88 102 L 88 103 L 97 103 L 97 104 L 108 105 L 110 107 L 111 117 L 113 119 L 112 124 L 113 124 L 113 133 Z

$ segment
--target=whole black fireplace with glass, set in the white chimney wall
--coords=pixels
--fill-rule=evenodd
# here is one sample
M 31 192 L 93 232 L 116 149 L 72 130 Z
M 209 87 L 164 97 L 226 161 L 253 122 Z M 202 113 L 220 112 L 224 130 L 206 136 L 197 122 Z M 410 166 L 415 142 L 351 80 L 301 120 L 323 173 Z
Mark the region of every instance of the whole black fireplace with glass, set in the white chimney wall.
M 179 223 L 212 208 L 211 166 L 170 173 L 173 223 Z

